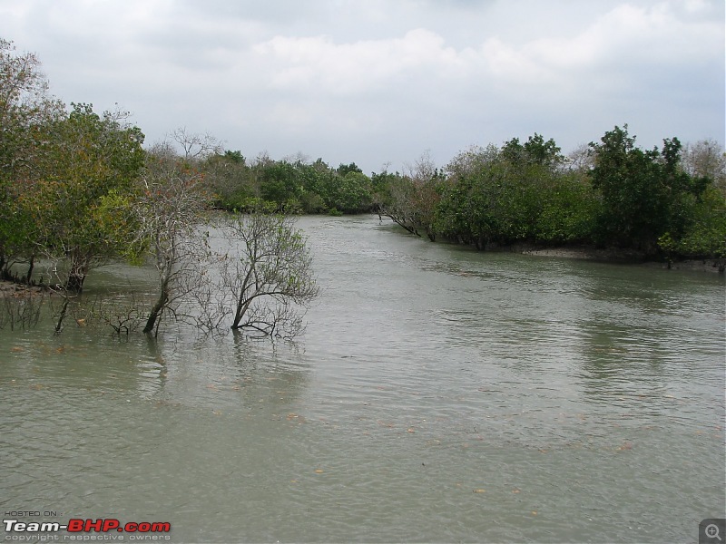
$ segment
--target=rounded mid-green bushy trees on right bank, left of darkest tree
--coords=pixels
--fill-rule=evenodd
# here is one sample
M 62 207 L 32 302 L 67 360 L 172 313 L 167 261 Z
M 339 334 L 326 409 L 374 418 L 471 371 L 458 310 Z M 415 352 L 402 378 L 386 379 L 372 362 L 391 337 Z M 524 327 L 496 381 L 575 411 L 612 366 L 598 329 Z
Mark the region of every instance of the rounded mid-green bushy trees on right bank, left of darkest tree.
M 448 166 L 437 212 L 442 236 L 486 248 L 522 241 L 564 243 L 589 230 L 589 187 L 557 170 L 554 141 L 535 134 L 525 145 L 507 141 L 465 151 Z

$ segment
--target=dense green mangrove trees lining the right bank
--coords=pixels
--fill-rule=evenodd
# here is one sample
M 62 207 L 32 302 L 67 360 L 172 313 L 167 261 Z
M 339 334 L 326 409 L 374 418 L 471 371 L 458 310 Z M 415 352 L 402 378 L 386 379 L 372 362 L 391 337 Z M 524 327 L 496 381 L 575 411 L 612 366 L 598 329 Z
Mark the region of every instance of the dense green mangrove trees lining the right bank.
M 431 240 L 726 257 L 726 159 L 713 141 L 642 150 L 627 125 L 615 126 L 564 156 L 535 133 L 463 151 L 442 170 L 423 157 L 387 189 L 382 213 Z

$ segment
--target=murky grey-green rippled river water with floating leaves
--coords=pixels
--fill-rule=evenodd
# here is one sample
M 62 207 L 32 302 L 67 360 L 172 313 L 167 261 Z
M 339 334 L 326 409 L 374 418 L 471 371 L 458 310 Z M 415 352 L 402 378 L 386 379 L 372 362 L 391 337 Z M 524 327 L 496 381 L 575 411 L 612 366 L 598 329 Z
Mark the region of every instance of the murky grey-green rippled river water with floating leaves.
M 299 226 L 297 348 L 0 332 L 4 511 L 174 542 L 675 542 L 724 516 L 723 277 Z

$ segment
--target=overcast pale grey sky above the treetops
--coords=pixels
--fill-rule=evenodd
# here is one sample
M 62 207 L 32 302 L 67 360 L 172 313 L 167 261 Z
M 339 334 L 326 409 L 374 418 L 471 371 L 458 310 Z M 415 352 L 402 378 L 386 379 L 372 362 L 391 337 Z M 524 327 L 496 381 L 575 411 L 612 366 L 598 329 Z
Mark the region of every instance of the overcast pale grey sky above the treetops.
M 723 0 L 0 0 L 0 37 L 147 143 L 185 127 L 250 158 L 370 173 L 623 123 L 724 142 Z

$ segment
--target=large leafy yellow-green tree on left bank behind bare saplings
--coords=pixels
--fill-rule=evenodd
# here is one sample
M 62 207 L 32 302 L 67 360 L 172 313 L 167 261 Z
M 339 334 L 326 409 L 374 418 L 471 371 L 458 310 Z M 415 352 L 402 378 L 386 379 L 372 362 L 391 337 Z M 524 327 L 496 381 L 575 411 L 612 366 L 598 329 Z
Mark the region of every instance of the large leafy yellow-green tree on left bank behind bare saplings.
M 34 203 L 42 210 L 44 251 L 71 256 L 84 275 L 94 263 L 123 254 L 132 236 L 121 220 L 130 212 L 120 207 L 131 202 L 143 166 L 143 135 L 110 113 L 97 115 L 89 104 L 72 105 L 54 124 Z

